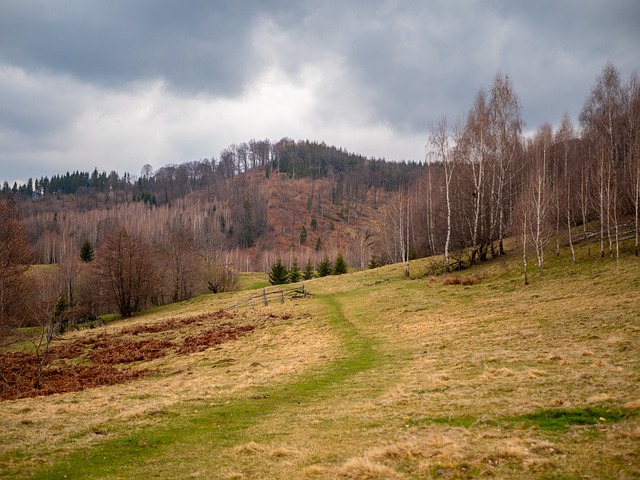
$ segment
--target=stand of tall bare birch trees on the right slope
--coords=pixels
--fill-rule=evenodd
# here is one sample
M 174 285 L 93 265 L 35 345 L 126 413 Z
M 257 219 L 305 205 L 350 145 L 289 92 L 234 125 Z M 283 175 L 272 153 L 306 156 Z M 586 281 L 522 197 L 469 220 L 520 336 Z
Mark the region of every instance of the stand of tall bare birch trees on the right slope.
M 638 255 L 640 83 L 612 64 L 596 79 L 579 115 L 555 129 L 523 134 L 519 97 L 496 75 L 458 121 L 442 118 L 429 135 L 426 170 L 386 208 L 377 250 L 390 262 L 443 254 L 454 269 L 505 253 L 515 236 L 540 271 L 549 243 L 575 261 L 574 243 L 617 258 L 634 239 Z M 464 257 L 464 258 L 463 258 Z M 526 263 L 525 263 L 526 268 Z

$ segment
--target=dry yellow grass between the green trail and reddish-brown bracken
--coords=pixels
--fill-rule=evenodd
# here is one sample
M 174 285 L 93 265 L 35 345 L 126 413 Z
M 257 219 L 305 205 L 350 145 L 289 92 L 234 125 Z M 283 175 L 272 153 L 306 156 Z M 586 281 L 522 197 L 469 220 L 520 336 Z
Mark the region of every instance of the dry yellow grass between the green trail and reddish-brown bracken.
M 190 308 L 171 318 L 202 313 Z M 307 309 L 310 307 L 310 309 Z M 52 451 L 88 448 L 113 436 L 110 423 L 130 428 L 162 421 L 167 407 L 193 399 L 209 402 L 250 396 L 261 385 L 286 381 L 326 363 L 340 351 L 335 335 L 312 320 L 313 305 L 301 305 L 287 322 L 264 321 L 276 307 L 243 312 L 241 321 L 260 327 L 251 335 L 188 356 L 170 355 L 145 362 L 159 375 L 136 382 L 80 392 L 2 402 L 0 459 L 30 451 L 37 464 Z M 113 334 L 125 326 L 164 320 L 154 314 L 119 322 L 102 331 Z M 73 332 L 70 341 L 92 331 Z

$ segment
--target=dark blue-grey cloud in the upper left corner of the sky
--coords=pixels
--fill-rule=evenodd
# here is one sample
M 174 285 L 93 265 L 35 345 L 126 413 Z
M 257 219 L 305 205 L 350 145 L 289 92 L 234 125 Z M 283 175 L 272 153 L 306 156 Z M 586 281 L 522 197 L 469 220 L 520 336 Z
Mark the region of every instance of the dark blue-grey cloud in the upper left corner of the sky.
M 0 61 L 121 88 L 161 78 L 230 95 L 259 59 L 260 2 L 16 2 L 0 7 Z

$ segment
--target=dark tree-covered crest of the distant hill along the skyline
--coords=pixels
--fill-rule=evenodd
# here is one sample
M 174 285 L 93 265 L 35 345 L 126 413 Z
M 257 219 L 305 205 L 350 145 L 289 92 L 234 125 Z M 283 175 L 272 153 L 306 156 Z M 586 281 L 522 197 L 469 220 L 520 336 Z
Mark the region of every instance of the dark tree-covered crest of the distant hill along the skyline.
M 324 142 L 294 141 L 283 138 L 276 143 L 269 140 L 251 140 L 230 145 L 219 158 L 170 164 L 154 170 L 144 165 L 140 175 L 111 171 L 66 172 L 51 178 L 30 178 L 24 185 L 13 186 L 4 181 L 2 194 L 26 197 L 122 192 L 126 200 L 142 200 L 153 204 L 169 203 L 188 193 L 211 189 L 217 182 L 228 181 L 251 170 L 262 170 L 268 177 L 272 173 L 286 174 L 289 178 L 335 180 L 348 188 L 381 188 L 395 191 L 415 179 L 422 163 L 390 162 L 372 159 L 328 146 Z

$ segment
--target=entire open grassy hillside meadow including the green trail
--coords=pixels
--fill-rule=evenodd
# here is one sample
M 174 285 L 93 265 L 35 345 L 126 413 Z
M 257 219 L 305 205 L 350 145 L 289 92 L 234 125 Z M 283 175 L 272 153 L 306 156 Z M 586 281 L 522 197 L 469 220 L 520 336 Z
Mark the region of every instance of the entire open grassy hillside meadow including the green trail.
M 444 276 L 417 260 L 211 326 L 151 327 L 233 295 L 66 335 L 171 346 L 128 362 L 137 380 L 1 402 L 0 477 L 640 478 L 640 263 L 578 259 L 526 287 L 516 255 Z M 181 350 L 222 321 L 251 328 Z

